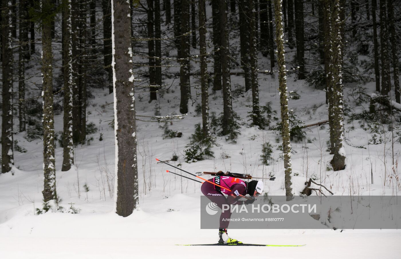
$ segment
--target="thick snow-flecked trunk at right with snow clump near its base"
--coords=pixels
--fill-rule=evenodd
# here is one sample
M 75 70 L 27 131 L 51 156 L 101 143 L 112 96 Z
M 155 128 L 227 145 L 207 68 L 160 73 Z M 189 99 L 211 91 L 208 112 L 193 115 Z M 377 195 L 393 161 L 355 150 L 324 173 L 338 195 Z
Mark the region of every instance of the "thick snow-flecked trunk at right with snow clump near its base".
M 332 144 L 333 159 L 330 162 L 334 171 L 345 168 L 344 150 L 344 114 L 342 102 L 342 20 L 339 16 L 340 2 L 334 0 L 331 6 L 331 36 L 330 36 L 330 64 L 328 67 L 328 81 L 331 94 L 329 95 L 330 143 Z

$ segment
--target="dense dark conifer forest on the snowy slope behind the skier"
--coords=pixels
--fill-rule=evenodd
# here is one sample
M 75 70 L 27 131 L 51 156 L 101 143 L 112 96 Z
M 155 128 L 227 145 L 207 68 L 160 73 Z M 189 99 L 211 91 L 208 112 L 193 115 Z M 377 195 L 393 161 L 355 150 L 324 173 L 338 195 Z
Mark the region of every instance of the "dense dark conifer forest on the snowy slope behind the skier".
M 398 193 L 400 28 L 399 0 L 2 0 L 0 186 L 43 178 L 1 207 L 196 193 L 155 158 Z

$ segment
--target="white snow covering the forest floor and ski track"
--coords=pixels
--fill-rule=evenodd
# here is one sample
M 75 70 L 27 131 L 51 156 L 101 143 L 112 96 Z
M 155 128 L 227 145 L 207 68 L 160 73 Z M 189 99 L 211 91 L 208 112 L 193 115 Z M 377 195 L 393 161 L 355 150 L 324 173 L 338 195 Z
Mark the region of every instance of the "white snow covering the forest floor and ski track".
M 198 54 L 198 50 L 191 48 L 191 54 Z M 287 60 L 292 60 L 293 55 L 294 52 L 288 54 Z M 265 70 L 267 64 L 267 58 L 260 55 L 260 69 Z M 198 64 L 193 65 L 197 70 Z M 213 71 L 213 63 L 208 66 L 209 71 Z M 37 74 L 30 78 L 32 82 L 40 81 L 38 69 L 38 63 L 31 69 L 32 74 Z M 178 68 L 169 71 L 176 72 Z M 294 73 L 289 73 L 287 78 L 288 90 L 296 91 L 300 96 L 298 100 L 289 100 L 289 108 L 297 118 L 304 125 L 327 120 L 325 92 L 309 86 L 305 80 L 296 80 Z M 178 81 L 178 78 L 164 79 L 164 84 L 168 85 L 166 90 L 159 91 L 158 101 L 151 104 L 148 103 L 149 92 L 139 90 L 135 96 L 137 115 L 180 114 Z M 199 83 L 191 77 L 191 84 Z M 231 76 L 233 90 L 236 85 L 243 85 L 241 75 Z M 328 187 L 334 195 L 399 195 L 401 182 L 397 165 L 401 155 L 401 130 L 392 132 L 388 124 L 364 123 L 355 118 L 352 114 L 360 114 L 369 108 L 368 102 L 357 105 L 358 100 L 355 99 L 358 95 L 352 94 L 356 87 L 365 88 L 367 94 L 373 93 L 375 82 L 345 85 L 344 100 L 348 109 L 344 121 L 346 168 L 332 171 L 330 167 L 332 155 L 327 151 L 326 143 L 329 140 L 328 125 L 306 128 L 304 140 L 292 141 L 292 180 L 296 195 L 304 189 L 304 183 L 309 178 Z M 279 118 L 277 88 L 277 78 L 259 74 L 260 105 L 271 102 L 272 110 L 277 111 L 272 117 Z M 27 152 L 14 149 L 13 173 L 0 175 L 0 258 L 205 258 L 217 254 L 242 258 L 399 258 L 399 230 L 230 229 L 230 236 L 245 243 L 307 245 L 207 249 L 174 246 L 215 243 L 217 229 L 200 229 L 201 185 L 166 173 L 166 169 L 173 171 L 173 168 L 156 163 L 156 158 L 170 161 L 176 155 L 178 160 L 170 163 L 193 173 L 222 170 L 249 173 L 254 177 L 275 176 L 275 181 L 265 181 L 265 192 L 268 195 L 285 194 L 284 164 L 280 158 L 282 151 L 278 149 L 281 138 L 276 130 L 249 127 L 247 115 L 251 108 L 247 105 L 252 104 L 251 91 L 233 99 L 233 110 L 242 124 L 237 143 L 217 136 L 219 146 L 212 149 L 214 159 L 185 162 L 184 149 L 190 143 L 194 126 L 201 123 L 201 117 L 196 114 L 196 104 L 200 103 L 196 92 L 199 94 L 200 90 L 193 87 L 192 98 L 196 102 L 193 105 L 190 103 L 188 115 L 167 124 L 170 130 L 181 132 L 182 137 L 164 137 L 164 129 L 160 128 L 165 127 L 163 123 L 137 122 L 140 209 L 127 218 L 113 213 L 115 139 L 110 122 L 114 111 L 113 95 L 108 94 L 106 89 L 91 90 L 94 98 L 89 100 L 87 107 L 87 124 L 93 123 L 97 131 L 88 136 L 89 139 L 93 137 L 89 144 L 75 147 L 75 166 L 70 171 L 61 171 L 63 149 L 57 141 L 57 195 L 62 199 L 60 205 L 65 212 L 72 206 L 79 210 L 78 214 L 57 212 L 36 215 L 36 209 L 43 207 L 43 142 L 41 139 L 29 142 L 24 138 L 25 133 L 16 133 L 14 140 Z M 30 96 L 39 95 L 40 91 L 32 87 Z M 56 98 L 55 102 L 57 100 L 60 98 Z M 210 112 L 219 116 L 223 111 L 222 104 L 222 93 L 213 93 L 210 89 Z M 273 120 L 271 127 L 275 127 L 276 123 Z M 18 125 L 17 116 L 14 128 L 15 125 Z M 396 125 L 393 128 L 396 129 Z M 55 132 L 62 130 L 61 113 L 55 116 Z M 266 166 L 262 165 L 260 155 L 262 143 L 267 141 L 273 146 L 273 159 Z M 180 173 L 178 170 L 174 172 Z

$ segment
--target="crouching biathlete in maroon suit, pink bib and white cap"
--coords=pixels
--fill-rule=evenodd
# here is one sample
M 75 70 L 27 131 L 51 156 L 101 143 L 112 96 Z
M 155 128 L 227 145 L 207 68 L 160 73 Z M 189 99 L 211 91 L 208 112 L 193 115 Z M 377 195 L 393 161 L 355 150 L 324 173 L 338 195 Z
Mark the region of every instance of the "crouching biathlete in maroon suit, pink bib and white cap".
M 221 185 L 228 191 L 212 183 L 204 182 L 201 187 L 203 195 L 207 196 L 209 200 L 216 203 L 220 209 L 223 210 L 223 205 L 236 205 L 236 204 L 252 204 L 255 201 L 255 197 L 262 194 L 263 192 L 263 181 L 249 181 L 245 182 L 242 179 L 230 177 L 230 176 L 216 176 L 209 181 Z M 246 201 L 239 201 L 240 195 L 251 196 L 253 199 Z M 227 197 L 225 197 L 227 195 Z M 227 227 L 230 223 L 231 211 L 225 210 L 220 215 L 220 227 L 219 227 L 219 243 L 241 243 L 236 239 L 232 239 L 227 235 Z

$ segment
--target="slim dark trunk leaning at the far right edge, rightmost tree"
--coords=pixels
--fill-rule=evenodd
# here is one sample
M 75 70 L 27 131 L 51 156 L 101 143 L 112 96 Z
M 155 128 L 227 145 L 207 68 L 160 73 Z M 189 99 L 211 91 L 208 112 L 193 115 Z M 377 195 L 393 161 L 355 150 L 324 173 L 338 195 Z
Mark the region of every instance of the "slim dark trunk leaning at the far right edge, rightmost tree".
M 387 0 L 389 10 L 389 25 L 391 32 L 391 51 L 393 54 L 393 73 L 394 73 L 394 91 L 395 91 L 395 102 L 400 103 L 400 83 L 398 78 L 398 56 L 397 56 L 397 35 L 395 34 L 395 20 L 393 1 Z

